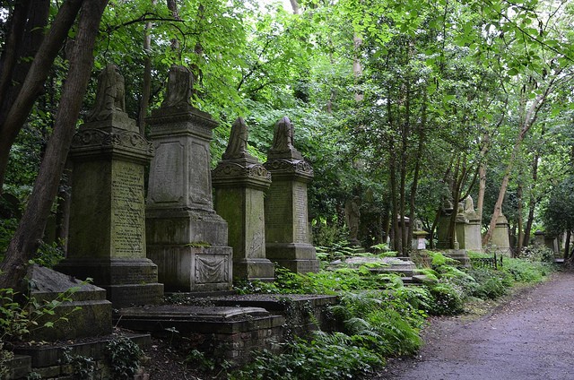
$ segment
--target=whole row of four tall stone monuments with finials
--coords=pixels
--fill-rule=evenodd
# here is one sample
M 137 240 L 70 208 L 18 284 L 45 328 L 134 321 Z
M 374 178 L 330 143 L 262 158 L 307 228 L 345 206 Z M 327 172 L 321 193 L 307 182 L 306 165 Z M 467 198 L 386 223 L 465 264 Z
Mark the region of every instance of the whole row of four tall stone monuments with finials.
M 74 136 L 68 254 L 57 270 L 93 279 L 114 307 L 159 303 L 164 286 L 212 291 L 230 289 L 233 278 L 270 281 L 272 262 L 318 270 L 307 215 L 313 170 L 293 147 L 289 119 L 275 126 L 264 165 L 247 151 L 243 120 L 232 126 L 213 170 L 213 208 L 209 144 L 217 123 L 189 104 L 191 81 L 187 68 L 171 67 L 148 142 L 126 114 L 123 77 L 108 65 Z

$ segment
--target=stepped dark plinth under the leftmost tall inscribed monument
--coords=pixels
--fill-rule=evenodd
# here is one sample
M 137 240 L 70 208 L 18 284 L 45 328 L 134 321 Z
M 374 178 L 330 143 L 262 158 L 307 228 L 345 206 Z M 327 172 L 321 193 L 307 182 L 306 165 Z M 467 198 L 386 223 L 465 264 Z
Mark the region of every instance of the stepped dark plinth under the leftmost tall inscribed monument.
M 163 284 L 157 282 L 158 268 L 146 258 L 68 258 L 57 270 L 79 279 L 91 278 L 108 292 L 114 308 L 159 304 Z

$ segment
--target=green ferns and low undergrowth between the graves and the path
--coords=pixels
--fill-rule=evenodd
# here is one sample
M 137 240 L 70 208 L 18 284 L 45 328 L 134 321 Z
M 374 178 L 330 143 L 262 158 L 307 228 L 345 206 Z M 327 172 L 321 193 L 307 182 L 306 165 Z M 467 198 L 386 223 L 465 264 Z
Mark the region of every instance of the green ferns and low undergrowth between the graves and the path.
M 428 315 L 463 313 L 468 299 L 500 298 L 515 283 L 543 281 L 553 270 L 552 264 L 540 261 L 547 256 L 544 253 L 527 259 L 505 258 L 494 270 L 461 268 L 446 255 L 424 251 L 416 262 L 422 263 L 417 272 L 425 281 L 407 287 L 397 274 L 375 271 L 372 264 L 344 266 L 345 258 L 361 255 L 352 249 L 321 247 L 319 252 L 325 262 L 318 273 L 298 274 L 278 267 L 275 282 L 243 282 L 236 289 L 240 293 L 337 295 L 340 302 L 330 311 L 342 322 L 343 331 L 315 332 L 309 341 L 294 338 L 283 343 L 281 355 L 264 350 L 253 363 L 232 372 L 230 379 L 361 378 L 384 365 L 385 358 L 419 350 L 419 332 Z M 379 257 L 384 255 L 388 253 Z M 329 265 L 334 260 L 338 265 Z

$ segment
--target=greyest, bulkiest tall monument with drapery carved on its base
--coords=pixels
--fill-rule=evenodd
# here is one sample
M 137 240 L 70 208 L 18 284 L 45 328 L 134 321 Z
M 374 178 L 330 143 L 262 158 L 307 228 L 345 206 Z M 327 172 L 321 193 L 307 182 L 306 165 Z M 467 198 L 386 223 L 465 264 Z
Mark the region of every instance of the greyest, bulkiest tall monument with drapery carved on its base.
M 227 223 L 213 210 L 209 143 L 217 126 L 193 108 L 191 72 L 171 66 L 168 92 L 148 123 L 155 157 L 146 206 L 147 255 L 166 289 L 230 289 Z

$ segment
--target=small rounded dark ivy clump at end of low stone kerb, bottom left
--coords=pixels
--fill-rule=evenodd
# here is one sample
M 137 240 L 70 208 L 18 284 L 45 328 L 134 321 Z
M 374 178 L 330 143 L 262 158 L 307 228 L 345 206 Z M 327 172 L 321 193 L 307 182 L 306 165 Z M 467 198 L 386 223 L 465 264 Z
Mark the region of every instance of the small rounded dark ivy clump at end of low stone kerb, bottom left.
M 140 367 L 143 351 L 126 337 L 118 337 L 109 341 L 104 350 L 109 360 L 109 367 L 114 379 L 132 379 Z

